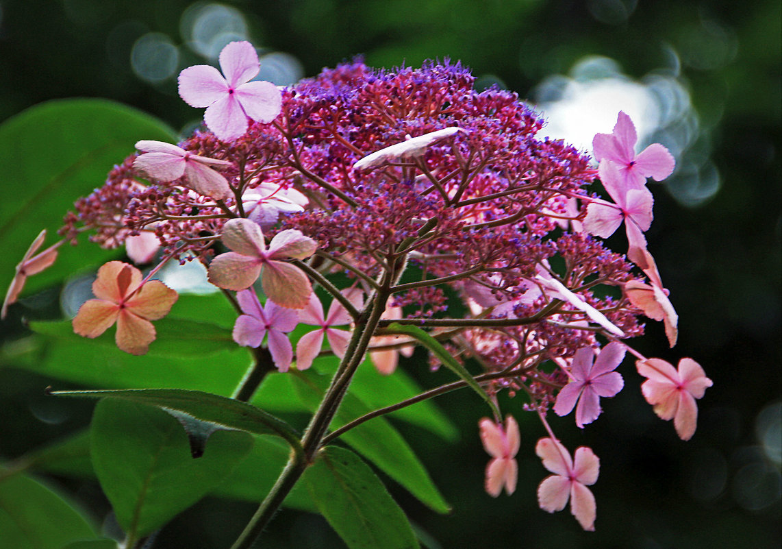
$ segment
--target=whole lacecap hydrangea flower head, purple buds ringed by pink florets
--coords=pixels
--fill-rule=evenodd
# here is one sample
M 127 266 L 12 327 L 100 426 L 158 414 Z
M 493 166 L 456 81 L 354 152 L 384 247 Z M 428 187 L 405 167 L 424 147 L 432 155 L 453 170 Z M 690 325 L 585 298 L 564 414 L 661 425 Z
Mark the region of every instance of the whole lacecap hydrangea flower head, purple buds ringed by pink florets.
M 390 374 L 418 343 L 402 328 L 416 327 L 456 362 L 482 368 L 475 382 L 495 403 L 479 422 L 492 457 L 486 491 L 515 489 L 520 434 L 497 395 L 522 393 L 547 431 L 535 446 L 551 471 L 540 507 L 570 501 L 587 530 L 599 461 L 587 447 L 571 455 L 549 410 L 575 410 L 579 428 L 595 421 L 600 399 L 622 390 L 615 370 L 630 352 L 647 402 L 691 438 L 695 401 L 712 381 L 692 359 L 673 367 L 627 343 L 643 334 L 643 317 L 665 324 L 671 347 L 677 334 L 644 237 L 647 178 L 665 179 L 674 160 L 659 144 L 636 154 L 630 117 L 620 112 L 611 134 L 595 135 L 590 158 L 537 139 L 543 123 L 529 107 L 511 92 L 476 92 L 458 64 L 391 72 L 357 61 L 291 88 L 252 80 L 259 62 L 248 42 L 227 45 L 220 64 L 223 74 L 197 66 L 179 78 L 182 99 L 206 107 L 206 129 L 178 145 L 138 142 L 140 154 L 66 216 L 63 241 L 88 229 L 135 262 L 159 259 L 146 276 L 103 265 L 95 298 L 73 320 L 77 334 L 95 338 L 117 323 L 118 347 L 145 353 L 152 321 L 177 301 L 151 280 L 171 259 L 206 266 L 237 308 L 236 343 L 265 347 L 281 372 L 332 352 L 368 353 Z M 600 240 L 622 224 L 624 254 Z M 19 264 L 4 315 L 25 277 L 55 261 L 62 241 L 36 255 L 44 238 Z M 328 312 L 314 287 L 330 294 Z M 294 351 L 299 323 L 314 330 Z M 439 362 L 430 356 L 431 367 Z

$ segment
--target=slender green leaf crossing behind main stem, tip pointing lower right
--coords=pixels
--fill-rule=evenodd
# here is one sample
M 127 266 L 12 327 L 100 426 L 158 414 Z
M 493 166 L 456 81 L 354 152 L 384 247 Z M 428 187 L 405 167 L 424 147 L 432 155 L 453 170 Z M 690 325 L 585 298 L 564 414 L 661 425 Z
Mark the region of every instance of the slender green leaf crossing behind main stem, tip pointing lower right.
M 328 377 L 307 370 L 297 372 L 293 383 L 304 405 L 315 410 L 328 388 Z M 332 421 L 332 428 L 349 423 L 370 411 L 361 400 L 348 392 Z M 340 438 L 432 510 L 439 513 L 450 511 L 449 504 L 439 493 L 410 445 L 385 418 L 375 417 L 350 429 Z

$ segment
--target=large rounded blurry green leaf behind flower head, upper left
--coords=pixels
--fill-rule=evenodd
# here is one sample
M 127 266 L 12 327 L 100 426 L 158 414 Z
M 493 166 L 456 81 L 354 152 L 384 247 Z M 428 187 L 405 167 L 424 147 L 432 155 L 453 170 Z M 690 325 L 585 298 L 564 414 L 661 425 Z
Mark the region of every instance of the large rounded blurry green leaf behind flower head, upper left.
M 49 101 L 0 125 L 0 173 L 5 188 L 13 190 L 0 200 L 3 284 L 41 229 L 48 230 L 45 247 L 58 240 L 57 229 L 74 201 L 101 186 L 139 139 L 176 137 L 161 121 L 105 99 Z M 46 287 L 109 257 L 94 244 L 78 251 L 60 247 L 55 265 L 30 277 L 27 289 Z

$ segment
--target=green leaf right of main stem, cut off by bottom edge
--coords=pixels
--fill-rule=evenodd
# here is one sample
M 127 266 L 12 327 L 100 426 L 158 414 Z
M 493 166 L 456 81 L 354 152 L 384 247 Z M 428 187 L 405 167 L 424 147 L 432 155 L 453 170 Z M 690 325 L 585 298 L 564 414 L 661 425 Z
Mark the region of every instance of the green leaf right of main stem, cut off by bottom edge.
M 326 446 L 302 481 L 350 549 L 418 547 L 410 522 L 386 486 L 350 450 Z

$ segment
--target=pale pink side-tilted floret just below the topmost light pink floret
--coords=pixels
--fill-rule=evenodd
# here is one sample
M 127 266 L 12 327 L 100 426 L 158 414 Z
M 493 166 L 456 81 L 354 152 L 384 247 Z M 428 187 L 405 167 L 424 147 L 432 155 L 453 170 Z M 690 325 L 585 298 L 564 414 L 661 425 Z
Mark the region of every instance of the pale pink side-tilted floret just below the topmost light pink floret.
M 206 197 L 222 200 L 231 196 L 228 180 L 213 168 L 230 166 L 231 162 L 216 158 L 199 157 L 181 147 L 162 141 L 139 141 L 138 155 L 133 167 L 158 181 L 174 181 L 185 175 L 188 186 Z

